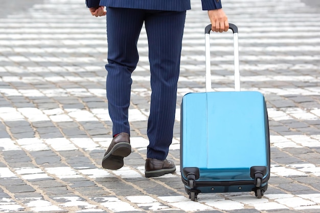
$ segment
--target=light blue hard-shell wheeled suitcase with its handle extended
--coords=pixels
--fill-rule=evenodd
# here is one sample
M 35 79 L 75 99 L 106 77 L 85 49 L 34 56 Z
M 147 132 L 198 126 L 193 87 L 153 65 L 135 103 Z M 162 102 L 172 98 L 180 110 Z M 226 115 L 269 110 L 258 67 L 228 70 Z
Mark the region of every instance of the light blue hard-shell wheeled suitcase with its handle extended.
M 255 192 L 261 198 L 270 177 L 266 103 L 257 91 L 240 91 L 238 28 L 234 35 L 235 91 L 210 92 L 210 31 L 205 28 L 206 92 L 182 98 L 180 171 L 191 200 L 199 193 Z

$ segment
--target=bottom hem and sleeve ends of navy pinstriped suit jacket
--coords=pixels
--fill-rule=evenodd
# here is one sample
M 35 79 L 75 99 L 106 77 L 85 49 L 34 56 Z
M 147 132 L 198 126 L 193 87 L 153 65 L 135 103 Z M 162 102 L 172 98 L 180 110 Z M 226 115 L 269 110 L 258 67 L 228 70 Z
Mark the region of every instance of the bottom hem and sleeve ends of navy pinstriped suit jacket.
M 86 0 L 87 7 L 115 7 L 147 10 L 185 11 L 191 9 L 190 0 Z M 222 8 L 220 0 L 201 0 L 203 10 Z

